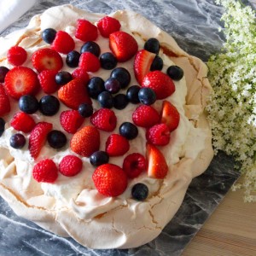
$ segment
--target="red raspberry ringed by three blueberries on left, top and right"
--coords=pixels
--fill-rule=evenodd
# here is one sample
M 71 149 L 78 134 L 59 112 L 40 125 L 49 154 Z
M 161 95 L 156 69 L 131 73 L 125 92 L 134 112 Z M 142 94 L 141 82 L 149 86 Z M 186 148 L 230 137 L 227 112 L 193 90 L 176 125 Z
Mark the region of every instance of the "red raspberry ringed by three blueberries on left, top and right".
M 87 72 L 96 72 L 101 67 L 100 60 L 90 52 L 84 52 L 80 55 L 79 67 Z

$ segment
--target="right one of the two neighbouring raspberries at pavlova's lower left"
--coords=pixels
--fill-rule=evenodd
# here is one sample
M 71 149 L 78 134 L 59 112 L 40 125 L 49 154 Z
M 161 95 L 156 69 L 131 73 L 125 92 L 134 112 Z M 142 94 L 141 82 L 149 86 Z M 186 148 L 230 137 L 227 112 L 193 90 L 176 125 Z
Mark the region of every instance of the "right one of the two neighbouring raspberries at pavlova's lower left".
M 75 155 L 66 155 L 62 158 L 59 165 L 61 174 L 72 177 L 82 171 L 83 161 Z

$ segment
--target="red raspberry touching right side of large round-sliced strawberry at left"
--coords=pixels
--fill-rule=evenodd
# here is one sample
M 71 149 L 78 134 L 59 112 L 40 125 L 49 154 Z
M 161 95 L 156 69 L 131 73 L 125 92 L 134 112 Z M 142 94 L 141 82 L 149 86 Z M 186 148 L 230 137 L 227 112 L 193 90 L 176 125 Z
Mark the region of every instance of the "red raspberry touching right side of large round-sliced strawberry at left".
M 55 75 L 57 73 L 55 70 L 43 70 L 38 74 L 39 83 L 45 93 L 52 94 L 59 89 L 59 84 L 55 82 Z

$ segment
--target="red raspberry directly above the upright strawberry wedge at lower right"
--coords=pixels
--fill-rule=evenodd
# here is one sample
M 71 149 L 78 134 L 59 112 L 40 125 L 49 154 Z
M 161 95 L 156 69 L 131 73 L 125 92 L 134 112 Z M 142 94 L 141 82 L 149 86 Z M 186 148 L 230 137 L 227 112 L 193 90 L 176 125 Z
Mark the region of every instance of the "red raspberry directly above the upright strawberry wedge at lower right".
M 148 143 L 156 146 L 165 146 L 170 143 L 170 130 L 166 124 L 158 124 L 150 127 L 146 132 Z

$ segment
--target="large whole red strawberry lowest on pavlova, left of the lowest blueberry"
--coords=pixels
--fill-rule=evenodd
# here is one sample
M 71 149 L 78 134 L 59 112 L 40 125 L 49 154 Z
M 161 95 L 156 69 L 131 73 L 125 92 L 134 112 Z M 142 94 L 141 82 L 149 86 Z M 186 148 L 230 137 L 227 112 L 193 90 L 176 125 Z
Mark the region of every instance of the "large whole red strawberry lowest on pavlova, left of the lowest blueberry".
M 119 196 L 127 188 L 127 176 L 122 168 L 113 164 L 98 166 L 92 180 L 102 195 Z

